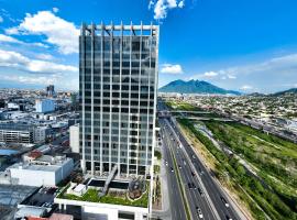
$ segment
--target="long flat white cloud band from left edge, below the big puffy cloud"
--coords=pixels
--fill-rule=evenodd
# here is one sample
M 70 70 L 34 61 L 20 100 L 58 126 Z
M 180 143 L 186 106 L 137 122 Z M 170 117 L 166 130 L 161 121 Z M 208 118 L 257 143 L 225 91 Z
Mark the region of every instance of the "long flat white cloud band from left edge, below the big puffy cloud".
M 77 73 L 78 68 L 70 65 L 53 62 L 30 59 L 20 53 L 0 50 L 0 66 L 15 67 L 16 69 L 35 74 L 66 74 Z

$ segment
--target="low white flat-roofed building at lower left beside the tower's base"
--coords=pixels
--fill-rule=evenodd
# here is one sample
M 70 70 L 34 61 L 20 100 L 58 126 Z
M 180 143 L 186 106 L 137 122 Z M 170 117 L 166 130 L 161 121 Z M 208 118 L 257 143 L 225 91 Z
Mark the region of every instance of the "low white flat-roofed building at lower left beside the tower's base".
M 10 176 L 18 185 L 56 186 L 74 168 L 74 161 L 66 156 L 43 155 L 30 163 L 16 163 L 8 168 Z

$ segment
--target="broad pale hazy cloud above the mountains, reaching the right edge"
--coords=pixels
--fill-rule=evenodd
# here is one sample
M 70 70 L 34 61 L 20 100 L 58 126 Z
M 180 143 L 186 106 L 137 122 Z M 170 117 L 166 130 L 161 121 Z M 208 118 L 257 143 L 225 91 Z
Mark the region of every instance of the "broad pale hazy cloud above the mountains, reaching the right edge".
M 215 76 L 217 73 L 217 76 Z M 292 88 L 297 77 L 297 53 L 253 61 L 238 66 L 212 69 L 189 76 L 207 80 L 222 88 L 260 92 L 275 92 Z

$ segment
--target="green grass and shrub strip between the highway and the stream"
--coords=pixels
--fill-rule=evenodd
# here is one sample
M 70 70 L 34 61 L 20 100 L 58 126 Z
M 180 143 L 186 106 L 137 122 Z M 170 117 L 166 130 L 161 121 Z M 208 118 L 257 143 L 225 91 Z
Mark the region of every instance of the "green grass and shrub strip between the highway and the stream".
M 218 162 L 220 162 L 218 165 L 219 167 L 216 169 L 216 175 L 218 177 L 228 172 L 228 174 L 232 177 L 230 180 L 242 186 L 244 190 L 249 193 L 249 195 L 272 219 L 297 219 L 297 215 L 294 213 L 277 195 L 265 188 L 258 179 L 249 175 L 238 160 L 234 157 L 229 157 L 223 152 L 219 151 L 207 136 L 195 129 L 194 124 L 189 120 L 179 119 L 178 121 L 182 125 L 188 128 L 218 160 Z M 261 211 L 255 212 L 255 207 L 251 206 L 249 201 L 246 202 L 250 205 L 251 210 L 253 210 L 254 218 L 263 219 L 263 213 L 261 213 Z

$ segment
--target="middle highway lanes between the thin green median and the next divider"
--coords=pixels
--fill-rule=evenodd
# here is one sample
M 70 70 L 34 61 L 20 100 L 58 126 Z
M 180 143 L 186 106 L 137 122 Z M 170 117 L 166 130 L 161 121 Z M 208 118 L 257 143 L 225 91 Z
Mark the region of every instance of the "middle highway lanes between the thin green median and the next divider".
M 185 189 L 188 205 L 190 208 L 191 219 L 217 219 L 206 199 L 204 189 L 199 184 L 199 180 L 197 178 L 198 174 L 191 170 L 190 161 L 184 155 L 184 151 L 178 147 L 179 144 L 173 136 L 173 133 L 167 123 L 168 122 L 166 122 L 165 119 L 160 119 L 162 135 L 164 138 L 164 141 L 166 142 L 165 147 L 168 147 L 172 155 L 174 155 L 174 157 L 176 158 L 177 168 L 182 177 L 182 184 Z M 172 167 L 168 167 L 168 169 L 172 170 Z M 201 194 L 199 193 L 199 190 Z M 201 210 L 202 216 L 199 217 L 197 209 Z

